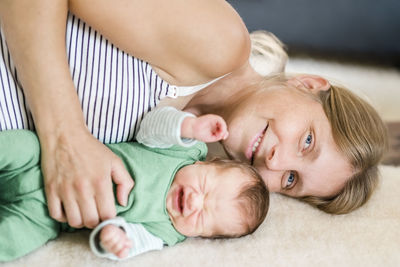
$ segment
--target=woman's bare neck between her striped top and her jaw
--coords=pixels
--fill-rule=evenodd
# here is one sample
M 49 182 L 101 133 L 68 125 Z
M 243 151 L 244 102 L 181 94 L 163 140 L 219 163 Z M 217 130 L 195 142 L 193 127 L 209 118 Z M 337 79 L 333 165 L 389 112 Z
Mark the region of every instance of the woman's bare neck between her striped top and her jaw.
M 195 115 L 223 115 L 227 106 L 246 94 L 246 88 L 262 79 L 247 62 L 240 69 L 198 92 L 184 108 Z

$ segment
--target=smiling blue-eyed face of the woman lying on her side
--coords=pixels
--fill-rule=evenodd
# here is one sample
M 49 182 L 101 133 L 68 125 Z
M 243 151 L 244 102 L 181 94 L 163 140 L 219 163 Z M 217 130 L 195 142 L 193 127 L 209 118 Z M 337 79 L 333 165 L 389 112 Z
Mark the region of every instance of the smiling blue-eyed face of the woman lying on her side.
M 338 151 L 321 104 L 295 85 L 304 87 L 298 80 L 271 82 L 233 106 L 225 117 L 224 148 L 255 166 L 271 192 L 333 196 L 352 168 Z

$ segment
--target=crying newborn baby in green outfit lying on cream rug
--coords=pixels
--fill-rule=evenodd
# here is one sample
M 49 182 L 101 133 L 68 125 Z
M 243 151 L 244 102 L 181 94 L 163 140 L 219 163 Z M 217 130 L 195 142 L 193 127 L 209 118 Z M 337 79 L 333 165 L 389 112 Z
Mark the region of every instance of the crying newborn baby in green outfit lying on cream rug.
M 209 118 L 214 122 L 201 127 L 209 132 L 205 135 L 218 140 L 226 136 L 224 122 Z M 203 130 L 193 135 L 196 122 L 204 120 L 210 119 L 178 120 L 182 137 L 197 138 Z M 195 142 L 189 139 L 181 141 Z M 93 230 L 90 244 L 99 256 L 131 257 L 187 236 L 239 237 L 253 232 L 266 216 L 268 191 L 257 172 L 227 160 L 202 162 L 207 153 L 202 142 L 190 148 L 149 148 L 134 142 L 109 148 L 123 160 L 135 187 L 126 206 L 116 204 L 119 217 Z M 48 214 L 36 135 L 1 132 L 0 151 L 0 261 L 9 261 L 73 229 Z

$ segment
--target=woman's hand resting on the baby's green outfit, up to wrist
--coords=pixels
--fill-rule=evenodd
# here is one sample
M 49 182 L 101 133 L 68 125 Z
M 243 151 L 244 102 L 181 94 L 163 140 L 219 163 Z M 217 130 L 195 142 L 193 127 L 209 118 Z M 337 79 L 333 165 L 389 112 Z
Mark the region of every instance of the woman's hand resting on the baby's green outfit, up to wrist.
M 72 227 L 95 227 L 116 215 L 113 193 L 126 205 L 133 179 L 122 161 L 88 131 L 42 143 L 50 216 Z

